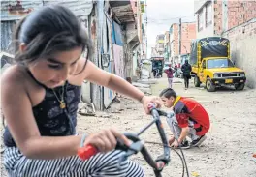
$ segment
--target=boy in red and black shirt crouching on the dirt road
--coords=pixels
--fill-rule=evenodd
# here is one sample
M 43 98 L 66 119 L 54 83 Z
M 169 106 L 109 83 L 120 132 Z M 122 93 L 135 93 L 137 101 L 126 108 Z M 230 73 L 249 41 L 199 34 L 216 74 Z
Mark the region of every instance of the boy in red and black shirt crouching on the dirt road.
M 171 127 L 173 134 L 176 133 L 178 140 L 172 137 L 169 140 L 169 144 L 174 147 L 180 147 L 188 149 L 190 147 L 199 146 L 204 140 L 206 140 L 209 130 L 209 117 L 206 109 L 195 100 L 179 97 L 176 92 L 167 88 L 160 93 L 160 97 L 164 105 L 168 108 L 173 107 L 176 114 L 174 120 L 174 128 Z M 189 136 L 192 142 L 188 143 L 186 136 Z

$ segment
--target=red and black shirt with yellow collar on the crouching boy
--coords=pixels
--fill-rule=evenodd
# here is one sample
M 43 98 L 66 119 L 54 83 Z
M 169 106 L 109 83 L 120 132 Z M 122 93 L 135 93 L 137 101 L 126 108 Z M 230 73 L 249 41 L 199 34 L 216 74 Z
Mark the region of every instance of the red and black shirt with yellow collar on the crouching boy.
M 177 97 L 174 104 L 176 120 L 180 128 L 188 126 L 188 120 L 194 123 L 197 135 L 204 135 L 208 132 L 210 122 L 206 109 L 193 99 Z

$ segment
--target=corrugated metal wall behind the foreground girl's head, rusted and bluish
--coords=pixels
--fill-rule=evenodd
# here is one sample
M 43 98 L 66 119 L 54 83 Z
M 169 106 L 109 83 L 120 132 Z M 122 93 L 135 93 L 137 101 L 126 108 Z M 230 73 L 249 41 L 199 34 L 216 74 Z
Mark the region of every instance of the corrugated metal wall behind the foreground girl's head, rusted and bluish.
M 60 3 L 70 8 L 77 16 L 89 15 L 93 8 L 92 0 L 21 0 L 19 2 L 14 0 L 1 1 L 1 50 L 3 51 L 11 52 L 9 48 L 16 21 L 42 6 Z

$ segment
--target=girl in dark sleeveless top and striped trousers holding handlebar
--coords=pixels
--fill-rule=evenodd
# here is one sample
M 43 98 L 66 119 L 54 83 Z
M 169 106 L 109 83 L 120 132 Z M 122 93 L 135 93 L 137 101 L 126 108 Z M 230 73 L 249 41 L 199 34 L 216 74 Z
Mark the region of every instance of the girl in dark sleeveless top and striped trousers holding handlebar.
M 2 75 L 4 164 L 10 176 L 142 177 L 143 169 L 129 160 L 117 169 L 120 151 L 113 151 L 113 129 L 76 134 L 80 86 L 84 79 L 140 101 L 146 113 L 154 98 L 122 78 L 104 72 L 81 57 L 91 44 L 77 17 L 62 6 L 44 7 L 20 21 L 15 40 L 16 65 Z M 87 161 L 77 156 L 80 143 L 101 153 Z

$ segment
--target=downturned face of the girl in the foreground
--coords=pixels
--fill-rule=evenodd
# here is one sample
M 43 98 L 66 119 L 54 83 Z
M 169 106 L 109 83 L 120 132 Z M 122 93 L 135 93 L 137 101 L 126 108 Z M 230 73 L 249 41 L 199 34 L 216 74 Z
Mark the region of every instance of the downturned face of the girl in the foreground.
M 69 75 L 76 74 L 81 47 L 69 51 L 56 52 L 28 65 L 33 76 L 48 88 L 61 86 Z

